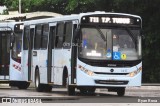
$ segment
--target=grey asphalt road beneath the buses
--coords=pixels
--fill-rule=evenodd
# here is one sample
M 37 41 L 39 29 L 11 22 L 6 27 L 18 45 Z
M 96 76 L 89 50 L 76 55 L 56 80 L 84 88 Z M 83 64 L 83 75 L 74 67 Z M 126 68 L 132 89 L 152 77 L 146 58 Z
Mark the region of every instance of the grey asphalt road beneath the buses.
M 119 97 L 116 92 L 108 92 L 107 89 L 97 89 L 94 95 L 83 95 L 78 90 L 75 96 L 68 96 L 65 88 L 53 88 L 52 92 L 36 92 L 33 87 L 27 90 L 19 90 L 16 87 L 0 85 L 0 104 L 7 99 L 12 103 L 87 103 L 91 104 L 159 104 L 160 86 L 127 87 L 125 96 Z M 3 99 L 3 100 L 2 100 Z M 112 104 L 113 103 L 113 104 Z M 88 106 L 88 105 L 87 105 Z M 98 105 L 100 106 L 100 105 Z M 147 106 L 147 105 L 145 105 Z

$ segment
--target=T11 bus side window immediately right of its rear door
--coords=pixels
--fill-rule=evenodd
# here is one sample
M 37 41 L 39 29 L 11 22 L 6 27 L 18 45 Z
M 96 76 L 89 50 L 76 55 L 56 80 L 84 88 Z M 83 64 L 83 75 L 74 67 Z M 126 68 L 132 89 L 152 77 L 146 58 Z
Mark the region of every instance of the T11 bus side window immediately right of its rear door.
M 42 26 L 36 26 L 36 34 L 34 37 L 34 49 L 40 49 L 41 46 L 41 36 L 42 36 Z

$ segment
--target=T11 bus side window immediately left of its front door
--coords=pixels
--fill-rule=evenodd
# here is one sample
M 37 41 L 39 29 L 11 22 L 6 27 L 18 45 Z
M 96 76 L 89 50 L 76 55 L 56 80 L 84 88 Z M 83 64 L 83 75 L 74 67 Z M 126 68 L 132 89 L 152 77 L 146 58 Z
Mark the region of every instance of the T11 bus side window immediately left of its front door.
M 65 23 L 65 36 L 63 37 L 63 48 L 70 49 L 71 48 L 71 38 L 72 38 L 72 22 Z

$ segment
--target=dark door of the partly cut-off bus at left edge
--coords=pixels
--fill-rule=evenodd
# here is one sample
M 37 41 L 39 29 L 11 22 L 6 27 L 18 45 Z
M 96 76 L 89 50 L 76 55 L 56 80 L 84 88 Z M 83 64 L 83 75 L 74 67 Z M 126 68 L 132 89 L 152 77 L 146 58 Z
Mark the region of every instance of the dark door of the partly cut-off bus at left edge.
M 7 32 L 0 33 L 0 80 L 9 79 L 10 36 Z

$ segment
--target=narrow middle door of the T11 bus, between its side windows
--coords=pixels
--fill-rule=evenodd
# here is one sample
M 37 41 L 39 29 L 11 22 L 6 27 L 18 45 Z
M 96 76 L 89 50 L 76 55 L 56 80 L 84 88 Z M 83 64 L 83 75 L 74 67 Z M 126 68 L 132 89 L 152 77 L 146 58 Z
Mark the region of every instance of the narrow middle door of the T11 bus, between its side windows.
M 49 24 L 49 44 L 48 44 L 48 69 L 47 80 L 48 83 L 54 82 L 54 39 L 56 23 Z

